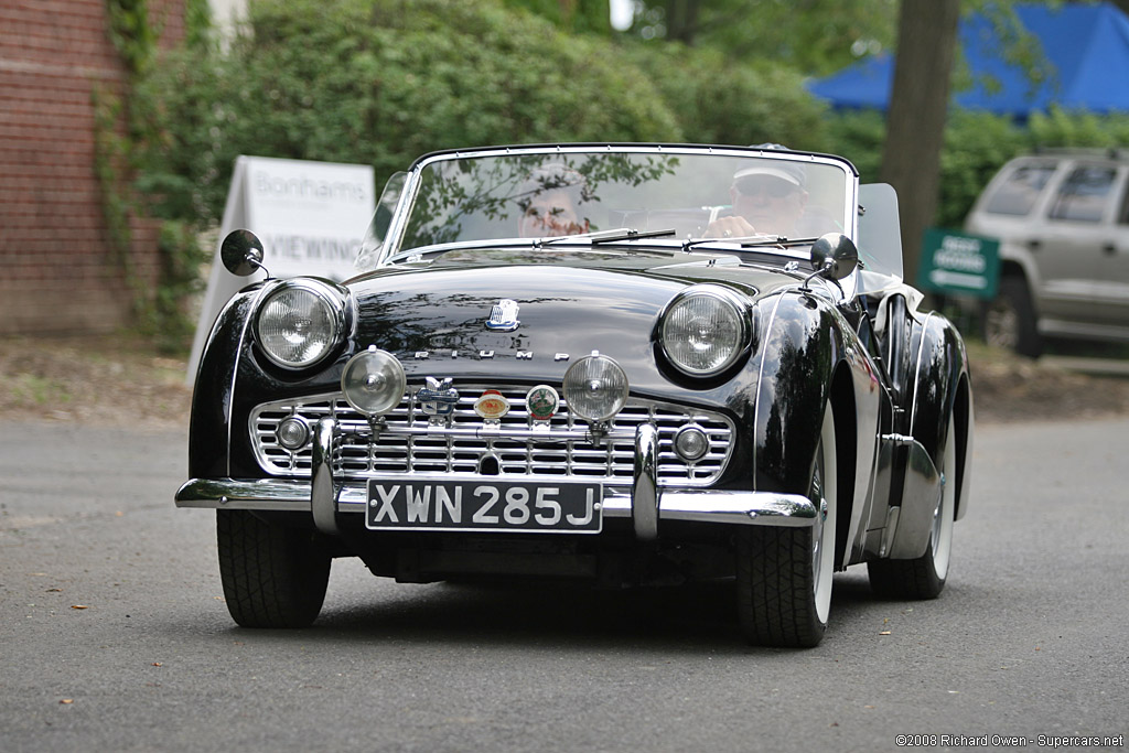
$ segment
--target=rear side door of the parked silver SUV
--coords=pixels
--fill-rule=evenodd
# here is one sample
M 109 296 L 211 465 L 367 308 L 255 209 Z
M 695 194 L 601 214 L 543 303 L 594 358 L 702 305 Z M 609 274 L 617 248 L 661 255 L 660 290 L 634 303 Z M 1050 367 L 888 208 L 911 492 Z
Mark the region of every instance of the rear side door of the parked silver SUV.
M 1041 231 L 1029 242 L 1039 269 L 1036 296 L 1044 331 L 1094 321 L 1096 280 L 1122 183 L 1118 167 L 1078 160 L 1067 165 L 1052 186 Z

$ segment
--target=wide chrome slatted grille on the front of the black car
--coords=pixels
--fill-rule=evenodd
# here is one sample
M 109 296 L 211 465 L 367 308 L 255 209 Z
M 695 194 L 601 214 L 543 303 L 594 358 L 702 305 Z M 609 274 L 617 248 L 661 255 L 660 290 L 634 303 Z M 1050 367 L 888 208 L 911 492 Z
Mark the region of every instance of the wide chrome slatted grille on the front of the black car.
M 660 485 L 708 485 L 721 474 L 732 452 L 733 424 L 719 413 L 631 399 L 597 447 L 586 437 L 587 424 L 572 420 L 563 399 L 549 424 L 533 430 L 525 405 L 527 389 L 501 389 L 510 411 L 490 429 L 474 412 L 474 401 L 485 387 L 457 387 L 462 396 L 449 428 L 429 426 L 429 417 L 409 394 L 385 417 L 385 428 L 375 444 L 368 439 L 368 422 L 340 393 L 264 403 L 251 414 L 255 455 L 268 473 L 310 474 L 309 444 L 290 452 L 278 443 L 278 424 L 290 415 L 299 415 L 310 426 L 326 417 L 336 420 L 331 464 L 334 476 L 341 480 L 406 473 L 475 475 L 483 472 L 480 464 L 489 457 L 485 463 L 496 463 L 501 476 L 577 476 L 630 484 L 634 432 L 644 422 L 658 429 Z M 694 463 L 683 461 L 673 447 L 675 432 L 689 423 L 700 427 L 709 438 L 709 452 Z M 495 475 L 493 471 L 485 473 Z

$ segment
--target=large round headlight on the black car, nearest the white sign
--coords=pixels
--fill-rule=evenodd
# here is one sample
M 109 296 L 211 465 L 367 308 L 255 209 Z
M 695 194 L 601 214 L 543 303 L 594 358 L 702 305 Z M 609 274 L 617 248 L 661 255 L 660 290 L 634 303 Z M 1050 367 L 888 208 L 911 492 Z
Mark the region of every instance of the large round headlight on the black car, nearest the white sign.
M 283 283 L 259 310 L 257 340 L 279 366 L 313 366 L 333 349 L 341 330 L 341 306 L 313 283 Z

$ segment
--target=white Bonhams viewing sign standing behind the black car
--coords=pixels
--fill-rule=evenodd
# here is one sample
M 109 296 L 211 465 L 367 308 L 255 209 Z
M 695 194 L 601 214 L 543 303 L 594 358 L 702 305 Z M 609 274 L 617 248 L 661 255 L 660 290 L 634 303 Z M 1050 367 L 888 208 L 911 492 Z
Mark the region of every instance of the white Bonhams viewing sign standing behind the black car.
M 367 165 L 239 157 L 227 193 L 219 243 L 246 228 L 263 242 L 263 265 L 275 278 L 309 274 L 341 281 L 356 274 L 353 260 L 376 209 L 373 168 Z M 189 383 L 212 323 L 224 305 L 256 279 L 231 274 L 219 243 L 189 359 Z

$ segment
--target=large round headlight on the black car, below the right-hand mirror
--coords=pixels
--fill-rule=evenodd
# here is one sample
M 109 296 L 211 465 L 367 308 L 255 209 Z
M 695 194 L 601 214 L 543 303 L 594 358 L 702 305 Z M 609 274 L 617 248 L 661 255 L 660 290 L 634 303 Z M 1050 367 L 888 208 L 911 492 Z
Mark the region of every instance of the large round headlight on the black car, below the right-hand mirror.
M 749 344 L 745 307 L 726 288 L 693 288 L 666 309 L 659 339 L 680 371 L 712 376 L 732 366 Z

